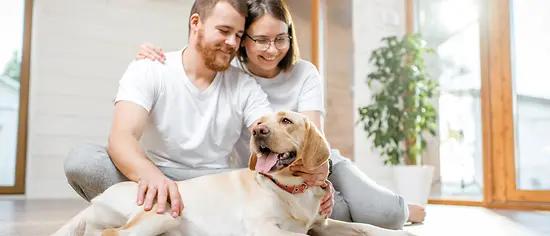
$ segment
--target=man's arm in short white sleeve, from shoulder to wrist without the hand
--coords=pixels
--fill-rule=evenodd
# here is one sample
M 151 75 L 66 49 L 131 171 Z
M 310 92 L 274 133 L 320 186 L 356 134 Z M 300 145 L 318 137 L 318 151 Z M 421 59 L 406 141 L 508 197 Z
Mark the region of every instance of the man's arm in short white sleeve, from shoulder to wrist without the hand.
M 144 173 L 161 173 L 147 158 L 139 139 L 160 87 L 151 61 L 133 61 L 119 81 L 107 151 L 128 179 L 138 182 Z

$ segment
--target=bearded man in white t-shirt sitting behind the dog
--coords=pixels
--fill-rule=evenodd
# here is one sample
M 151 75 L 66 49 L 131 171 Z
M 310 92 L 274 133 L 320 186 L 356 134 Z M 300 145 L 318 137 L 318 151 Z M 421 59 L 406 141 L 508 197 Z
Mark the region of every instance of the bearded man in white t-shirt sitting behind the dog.
M 65 162 L 78 194 L 89 201 L 131 180 L 139 183 L 138 205 L 150 210 L 156 199 L 162 213 L 169 201 L 175 217 L 184 204 L 175 180 L 231 170 L 228 157 L 241 127 L 272 112 L 255 80 L 230 66 L 247 12 L 244 0 L 197 0 L 187 47 L 167 53 L 164 64 L 140 60 L 128 66 L 108 148 L 80 146 Z

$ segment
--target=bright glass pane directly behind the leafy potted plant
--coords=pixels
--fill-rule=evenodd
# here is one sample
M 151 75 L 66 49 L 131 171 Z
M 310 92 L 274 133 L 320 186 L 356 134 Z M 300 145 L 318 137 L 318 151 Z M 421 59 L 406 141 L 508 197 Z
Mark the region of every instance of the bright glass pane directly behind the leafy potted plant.
M 483 201 L 483 116 L 478 0 L 416 0 L 415 31 L 435 53 L 426 69 L 439 87 L 438 137 L 425 156 L 435 166 L 430 198 Z

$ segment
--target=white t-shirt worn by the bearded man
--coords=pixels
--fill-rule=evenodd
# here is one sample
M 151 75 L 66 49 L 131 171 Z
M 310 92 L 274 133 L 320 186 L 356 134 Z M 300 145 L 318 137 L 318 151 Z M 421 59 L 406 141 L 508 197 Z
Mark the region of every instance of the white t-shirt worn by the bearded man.
M 235 67 L 218 73 L 201 93 L 183 69 L 183 50 L 166 53 L 165 64 L 130 63 L 116 101 L 131 101 L 149 112 L 140 141 L 156 165 L 226 168 L 242 127 L 272 109 L 256 80 Z

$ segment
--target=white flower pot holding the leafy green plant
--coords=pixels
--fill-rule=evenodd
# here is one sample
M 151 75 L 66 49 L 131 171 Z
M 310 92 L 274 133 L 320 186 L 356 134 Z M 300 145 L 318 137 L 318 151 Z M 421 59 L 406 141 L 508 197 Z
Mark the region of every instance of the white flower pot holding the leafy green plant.
M 393 178 L 397 194 L 407 203 L 425 206 L 428 204 L 434 167 L 429 165 L 393 167 Z

